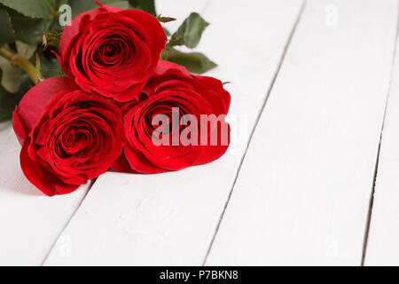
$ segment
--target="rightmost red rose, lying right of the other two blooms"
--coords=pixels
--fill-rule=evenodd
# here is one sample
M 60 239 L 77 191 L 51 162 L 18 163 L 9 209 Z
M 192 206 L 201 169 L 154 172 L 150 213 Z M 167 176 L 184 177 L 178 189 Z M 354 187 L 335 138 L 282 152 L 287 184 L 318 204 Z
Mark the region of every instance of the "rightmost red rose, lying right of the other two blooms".
M 226 152 L 230 127 L 224 116 L 231 97 L 219 80 L 160 61 L 142 96 L 138 103 L 122 107 L 128 144 L 113 163 L 114 170 L 181 170 L 215 161 Z M 207 122 L 212 116 L 219 120 Z

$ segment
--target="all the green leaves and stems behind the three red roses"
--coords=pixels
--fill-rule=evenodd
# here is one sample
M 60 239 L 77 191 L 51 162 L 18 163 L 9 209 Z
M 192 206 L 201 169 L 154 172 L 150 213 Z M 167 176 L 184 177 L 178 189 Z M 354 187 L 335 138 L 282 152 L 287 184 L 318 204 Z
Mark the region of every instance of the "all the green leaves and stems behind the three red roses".
M 153 14 L 161 23 L 175 20 L 157 14 L 154 0 L 98 0 L 101 4 L 121 9 L 139 9 Z M 28 59 L 41 79 L 65 75 L 55 55 L 59 37 L 64 27 L 59 26 L 59 6 L 69 4 L 72 18 L 98 8 L 94 0 L 0 0 L 0 48 Z M 161 59 L 187 67 L 193 73 L 202 74 L 215 67 L 215 63 L 200 52 L 178 51 L 176 46 L 190 49 L 197 47 L 208 23 L 193 12 L 170 38 Z M 0 57 L 0 120 L 12 116 L 12 111 L 22 96 L 34 83 L 10 58 Z

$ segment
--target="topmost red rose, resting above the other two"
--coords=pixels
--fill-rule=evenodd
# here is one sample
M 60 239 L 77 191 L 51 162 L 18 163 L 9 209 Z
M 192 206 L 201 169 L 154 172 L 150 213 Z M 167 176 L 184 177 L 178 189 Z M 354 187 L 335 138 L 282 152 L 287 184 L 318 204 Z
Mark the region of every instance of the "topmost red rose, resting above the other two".
M 129 101 L 153 74 L 166 41 L 151 14 L 101 5 L 65 28 L 59 64 L 83 91 Z

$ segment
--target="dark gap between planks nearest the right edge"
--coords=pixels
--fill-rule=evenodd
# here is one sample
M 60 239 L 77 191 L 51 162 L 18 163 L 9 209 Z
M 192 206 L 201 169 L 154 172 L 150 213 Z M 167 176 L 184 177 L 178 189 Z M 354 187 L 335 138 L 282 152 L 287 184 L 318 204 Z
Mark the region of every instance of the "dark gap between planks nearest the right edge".
M 370 194 L 369 210 L 367 213 L 367 220 L 366 220 L 366 225 L 365 225 L 365 229 L 364 229 L 364 242 L 363 242 L 361 266 L 364 266 L 364 260 L 365 260 L 366 254 L 367 254 L 367 244 L 369 241 L 370 225 L 372 223 L 372 205 L 374 202 L 375 185 L 376 185 L 378 172 L 379 172 L 379 155 L 380 155 L 381 141 L 382 141 L 382 135 L 384 132 L 384 124 L 385 124 L 385 120 L 387 117 L 387 105 L 389 103 L 389 94 L 391 92 L 392 82 L 394 80 L 395 59 L 397 56 L 396 48 L 398 46 L 397 41 L 398 41 L 398 36 L 399 36 L 399 2 L 397 2 L 396 5 L 397 5 L 397 20 L 396 20 L 395 46 L 394 46 L 394 53 L 393 53 L 392 62 L 391 62 L 391 72 L 390 72 L 389 86 L 388 86 L 388 91 L 387 91 L 387 99 L 385 101 L 382 125 L 381 125 L 381 130 L 379 132 L 379 148 L 377 150 L 377 157 L 376 157 L 375 167 L 374 167 L 374 177 L 372 180 L 372 193 Z

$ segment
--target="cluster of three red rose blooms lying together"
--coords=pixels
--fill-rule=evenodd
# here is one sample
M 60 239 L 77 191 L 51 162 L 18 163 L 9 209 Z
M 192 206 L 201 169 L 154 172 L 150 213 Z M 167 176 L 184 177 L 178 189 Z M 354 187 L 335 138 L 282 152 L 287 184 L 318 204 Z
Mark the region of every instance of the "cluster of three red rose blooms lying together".
M 223 83 L 170 62 L 173 45 L 196 41 L 186 29 L 207 23 L 194 14 L 168 39 L 160 21 L 169 18 L 99 5 L 60 36 L 66 76 L 37 83 L 12 114 L 21 168 L 47 195 L 110 169 L 154 174 L 212 162 L 230 143 Z

